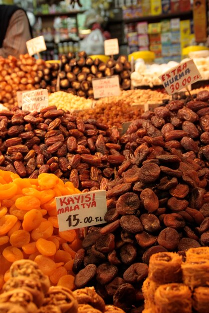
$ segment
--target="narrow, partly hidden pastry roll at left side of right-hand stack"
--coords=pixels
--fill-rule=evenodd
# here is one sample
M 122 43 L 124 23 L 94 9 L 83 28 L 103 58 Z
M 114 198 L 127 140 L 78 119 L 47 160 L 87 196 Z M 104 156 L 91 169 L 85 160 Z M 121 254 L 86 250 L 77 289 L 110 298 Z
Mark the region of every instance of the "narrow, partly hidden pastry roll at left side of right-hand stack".
M 158 286 L 159 284 L 151 280 L 149 277 L 144 280 L 142 285 L 142 292 L 144 296 L 145 308 L 154 309 L 154 293 Z

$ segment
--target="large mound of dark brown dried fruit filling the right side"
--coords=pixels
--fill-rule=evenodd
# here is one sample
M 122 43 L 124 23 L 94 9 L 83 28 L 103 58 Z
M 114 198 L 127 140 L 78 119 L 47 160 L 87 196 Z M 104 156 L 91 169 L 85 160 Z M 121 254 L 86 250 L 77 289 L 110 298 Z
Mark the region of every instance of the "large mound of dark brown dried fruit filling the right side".
M 93 226 L 74 261 L 78 288 L 140 312 L 149 258 L 209 244 L 209 92 L 147 111 L 121 137 L 108 184 L 107 224 Z

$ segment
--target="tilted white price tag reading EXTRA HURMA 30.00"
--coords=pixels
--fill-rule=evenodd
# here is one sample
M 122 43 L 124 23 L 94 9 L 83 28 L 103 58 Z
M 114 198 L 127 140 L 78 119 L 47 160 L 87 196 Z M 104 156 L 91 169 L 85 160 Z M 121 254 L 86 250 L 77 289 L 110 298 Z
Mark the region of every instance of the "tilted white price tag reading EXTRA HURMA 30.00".
M 192 59 L 172 67 L 159 76 L 168 94 L 178 92 L 191 83 L 201 79 L 201 75 Z

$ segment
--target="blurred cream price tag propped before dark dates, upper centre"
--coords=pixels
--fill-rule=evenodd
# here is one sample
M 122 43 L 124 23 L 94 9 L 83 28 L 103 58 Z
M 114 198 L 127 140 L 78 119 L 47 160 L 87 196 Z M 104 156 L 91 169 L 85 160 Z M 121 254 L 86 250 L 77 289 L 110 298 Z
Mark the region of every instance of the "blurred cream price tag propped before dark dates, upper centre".
M 120 95 L 120 82 L 118 75 L 92 79 L 94 98 Z

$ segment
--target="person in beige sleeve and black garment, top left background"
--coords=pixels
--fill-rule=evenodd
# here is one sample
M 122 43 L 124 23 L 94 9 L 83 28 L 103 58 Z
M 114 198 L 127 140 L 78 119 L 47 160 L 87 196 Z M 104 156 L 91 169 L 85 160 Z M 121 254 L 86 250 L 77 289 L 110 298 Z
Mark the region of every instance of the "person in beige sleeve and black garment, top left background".
M 33 37 L 24 9 L 17 5 L 0 5 L 0 56 L 27 53 L 26 41 Z

